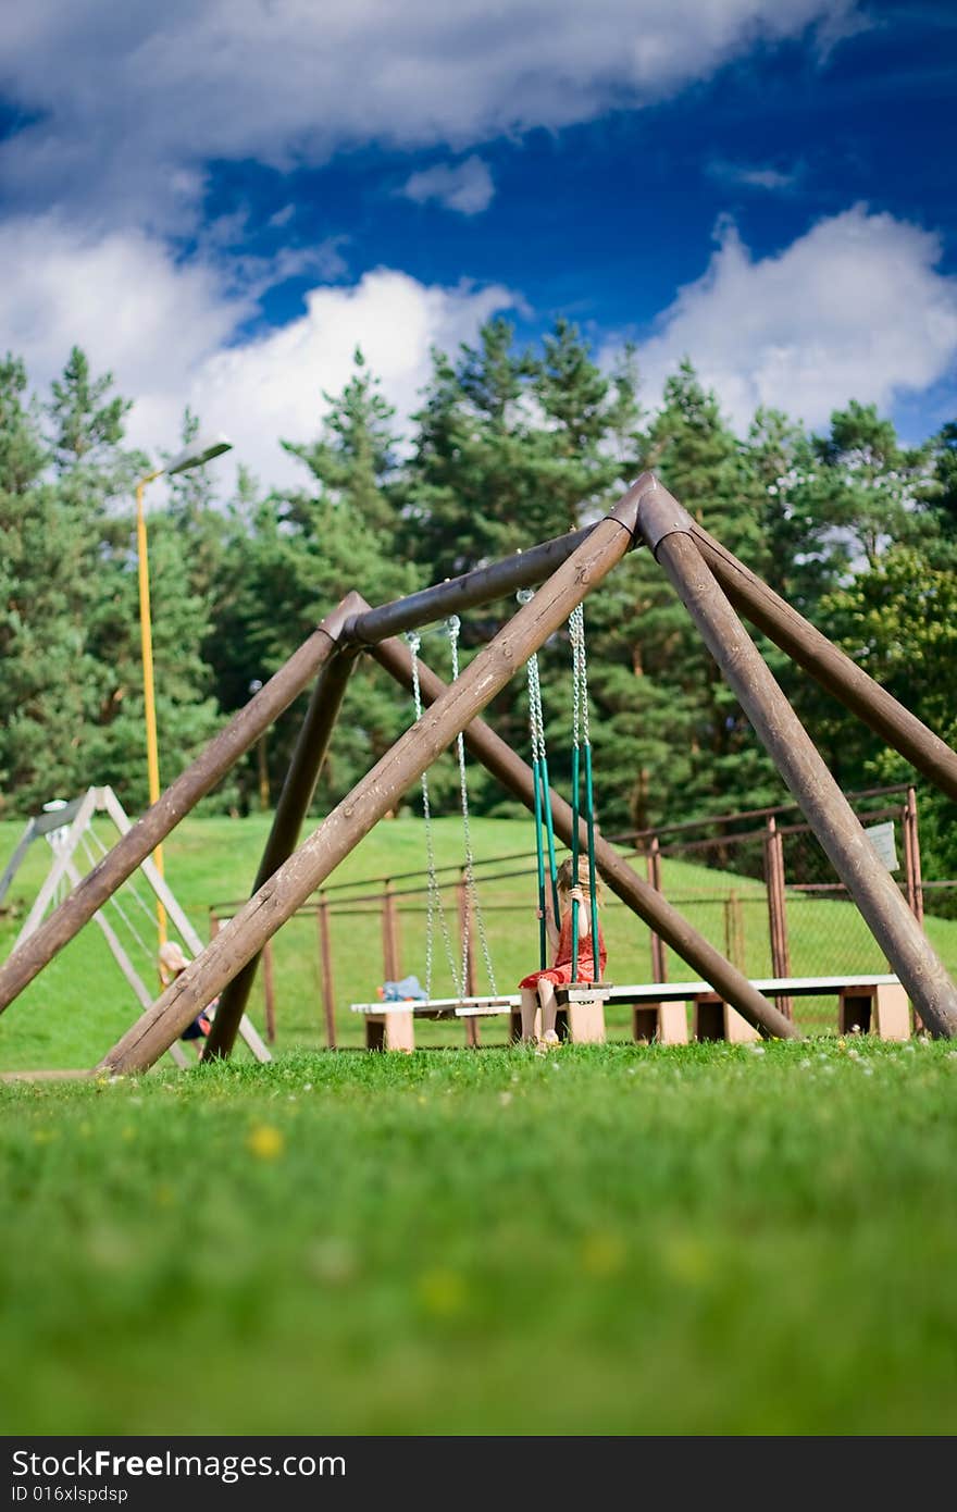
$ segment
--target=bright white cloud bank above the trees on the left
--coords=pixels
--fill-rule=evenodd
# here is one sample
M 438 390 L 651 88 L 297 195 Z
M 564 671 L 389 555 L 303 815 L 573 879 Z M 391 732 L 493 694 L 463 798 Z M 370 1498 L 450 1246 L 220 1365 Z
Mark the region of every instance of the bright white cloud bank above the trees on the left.
M 429 373 L 429 351 L 455 351 L 514 304 L 503 287 L 425 286 L 376 269 L 354 286 L 314 287 L 305 313 L 254 340 L 237 337 L 256 314 L 204 262 L 177 263 L 142 233 L 77 233 L 54 216 L 0 227 L 0 330 L 44 390 L 71 345 L 95 372 L 110 370 L 136 401 L 129 438 L 156 457 L 175 451 L 183 407 L 234 442 L 237 461 L 268 485 L 302 478 L 278 438 L 319 429 L 322 392 L 349 380 L 361 346 L 387 398 L 405 417 Z M 280 269 L 281 271 L 281 269 Z

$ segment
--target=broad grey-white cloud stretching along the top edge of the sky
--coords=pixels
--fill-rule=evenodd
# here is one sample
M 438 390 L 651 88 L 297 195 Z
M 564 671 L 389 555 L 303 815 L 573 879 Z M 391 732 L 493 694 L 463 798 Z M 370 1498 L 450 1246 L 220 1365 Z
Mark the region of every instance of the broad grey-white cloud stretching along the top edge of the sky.
M 632 109 L 759 44 L 860 24 L 857 0 L 30 0 L 6 6 L 0 150 L 23 207 L 51 197 L 181 227 L 203 163 L 287 168 L 378 141 L 455 151 Z

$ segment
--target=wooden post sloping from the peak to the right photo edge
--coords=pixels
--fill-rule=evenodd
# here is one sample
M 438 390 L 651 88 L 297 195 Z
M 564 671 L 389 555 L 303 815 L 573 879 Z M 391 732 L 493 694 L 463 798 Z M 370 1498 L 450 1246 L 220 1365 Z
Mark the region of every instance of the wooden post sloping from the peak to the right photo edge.
M 662 490 L 664 491 L 664 490 Z M 957 751 L 928 730 L 921 720 L 874 682 L 850 656 L 828 641 L 803 615 L 780 599 L 750 567 L 721 546 L 703 526 L 689 520 L 688 531 L 724 593 L 751 624 L 788 652 L 822 688 L 865 721 L 894 750 L 957 798 Z

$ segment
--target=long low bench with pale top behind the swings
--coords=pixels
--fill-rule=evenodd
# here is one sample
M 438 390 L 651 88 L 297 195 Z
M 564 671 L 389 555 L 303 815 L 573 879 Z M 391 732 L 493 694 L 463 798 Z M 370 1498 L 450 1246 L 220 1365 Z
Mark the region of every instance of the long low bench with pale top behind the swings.
M 767 998 L 838 998 L 841 1034 L 878 1034 L 886 1040 L 910 1037 L 910 1004 L 897 977 L 765 977 L 753 981 Z M 585 983 L 559 989 L 558 1028 L 573 1043 L 605 1042 L 605 1005 L 629 1004 L 632 1033 L 640 1042 L 688 1043 L 688 1004 L 695 1040 L 748 1043 L 757 1030 L 724 1002 L 706 981 L 647 981 L 630 986 Z M 369 1049 L 414 1049 L 416 1019 L 475 1019 L 509 1016 L 511 1039 L 522 1034 L 520 996 L 438 998 L 428 1002 L 354 1002 L 366 1016 Z

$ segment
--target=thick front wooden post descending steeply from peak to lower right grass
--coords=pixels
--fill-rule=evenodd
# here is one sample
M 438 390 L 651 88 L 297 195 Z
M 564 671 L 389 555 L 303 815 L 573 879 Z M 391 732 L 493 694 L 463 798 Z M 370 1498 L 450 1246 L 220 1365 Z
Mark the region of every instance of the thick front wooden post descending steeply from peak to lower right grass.
M 754 726 L 835 871 L 933 1034 L 957 1034 L 957 989 L 878 860 L 757 647 L 695 546 L 691 519 L 665 488 L 646 494 L 640 528 Z

